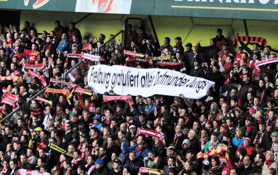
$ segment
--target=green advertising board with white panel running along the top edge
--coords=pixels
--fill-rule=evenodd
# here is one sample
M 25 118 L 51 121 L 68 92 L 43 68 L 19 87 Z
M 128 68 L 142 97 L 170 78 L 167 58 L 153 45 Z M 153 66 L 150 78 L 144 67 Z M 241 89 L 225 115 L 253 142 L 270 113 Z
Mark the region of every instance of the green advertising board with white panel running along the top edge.
M 0 8 L 278 20 L 278 0 L 0 0 Z

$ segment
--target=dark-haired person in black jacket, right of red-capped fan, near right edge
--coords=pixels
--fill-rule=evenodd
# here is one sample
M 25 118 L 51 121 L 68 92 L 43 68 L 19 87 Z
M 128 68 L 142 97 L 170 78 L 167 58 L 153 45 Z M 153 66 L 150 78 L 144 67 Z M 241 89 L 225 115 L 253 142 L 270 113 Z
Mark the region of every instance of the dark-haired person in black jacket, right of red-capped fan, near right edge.
M 266 131 L 266 124 L 264 121 L 259 123 L 259 131 L 253 141 L 253 145 L 256 143 L 261 143 L 263 146 L 263 151 L 267 150 L 268 145 L 271 142 L 271 137 L 269 132 Z

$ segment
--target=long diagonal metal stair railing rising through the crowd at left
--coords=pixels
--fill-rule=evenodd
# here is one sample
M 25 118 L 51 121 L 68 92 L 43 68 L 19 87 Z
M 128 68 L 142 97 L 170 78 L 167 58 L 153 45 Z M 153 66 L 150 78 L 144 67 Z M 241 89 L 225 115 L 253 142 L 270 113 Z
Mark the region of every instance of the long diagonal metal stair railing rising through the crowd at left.
M 123 33 L 124 33 L 124 30 L 121 30 L 121 31 L 117 32 L 113 37 L 111 37 L 108 41 L 106 41 L 105 43 L 103 43 L 103 44 L 100 46 L 100 48 L 105 47 L 107 43 L 109 43 L 111 40 L 113 40 L 114 38 L 116 38 L 116 37 L 117 37 L 119 34 L 121 34 L 121 33 L 122 33 L 122 41 L 123 41 L 123 37 L 124 37 Z M 93 52 L 92 52 L 92 54 L 99 55 L 99 49 L 100 49 L 100 48 L 97 48 L 96 51 L 93 51 Z M 70 73 L 74 68 L 76 68 L 76 67 L 77 67 L 79 64 L 81 64 L 82 62 L 83 62 L 83 61 L 80 61 L 80 62 L 78 62 L 77 64 L 75 64 L 75 65 L 74 65 L 71 69 L 69 69 L 67 72 L 63 73 L 63 74 L 61 75 L 61 77 L 59 77 L 59 79 L 65 80 L 67 74 Z M 59 80 L 59 79 L 58 79 L 58 80 Z M 10 122 L 9 119 L 12 118 L 12 116 L 13 116 L 16 112 L 18 112 L 19 110 L 23 110 L 22 116 L 24 116 L 26 113 L 28 113 L 28 111 L 30 110 L 30 109 L 29 109 L 29 106 L 30 106 L 31 101 L 32 101 L 33 99 L 37 98 L 37 96 L 42 95 L 42 94 L 45 92 L 46 88 L 49 87 L 49 86 L 50 86 L 50 84 L 48 84 L 43 90 L 41 90 L 41 91 L 38 92 L 37 94 L 35 94 L 35 95 L 33 95 L 32 97 L 30 97 L 29 100 L 28 100 L 28 101 L 25 101 L 21 106 L 15 108 L 15 109 L 14 109 L 11 113 L 9 113 L 7 116 L 5 116 L 4 118 L 2 118 L 2 119 L 0 120 L 0 124 L 2 124 L 2 123 L 4 123 L 4 122 Z M 61 83 L 61 88 L 62 88 L 62 87 L 63 87 L 63 84 Z

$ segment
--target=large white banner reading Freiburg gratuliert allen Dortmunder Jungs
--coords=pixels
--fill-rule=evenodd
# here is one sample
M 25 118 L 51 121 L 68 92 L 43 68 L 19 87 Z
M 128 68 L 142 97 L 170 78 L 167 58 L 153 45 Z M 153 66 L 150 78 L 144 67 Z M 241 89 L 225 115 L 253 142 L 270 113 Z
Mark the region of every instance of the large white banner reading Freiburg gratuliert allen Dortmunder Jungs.
M 88 72 L 88 85 L 96 93 L 113 90 L 117 95 L 154 94 L 199 99 L 214 82 L 168 69 L 137 69 L 120 65 L 95 65 Z

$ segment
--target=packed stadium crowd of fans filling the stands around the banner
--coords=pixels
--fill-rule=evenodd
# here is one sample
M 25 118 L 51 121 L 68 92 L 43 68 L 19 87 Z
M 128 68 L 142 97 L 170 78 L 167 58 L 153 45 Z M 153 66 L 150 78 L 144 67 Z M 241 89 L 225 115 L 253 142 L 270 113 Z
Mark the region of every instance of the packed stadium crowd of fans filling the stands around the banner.
M 45 86 L 56 90 L 2 124 L 0 175 L 23 175 L 22 170 L 137 175 L 141 167 L 156 175 L 278 175 L 278 64 L 256 64 L 276 58 L 264 38 L 247 44 L 240 40 L 233 52 L 218 29 L 209 46 L 201 46 L 201 40 L 184 46 L 179 36 L 175 46 L 169 37 L 159 46 L 148 40 L 143 26 L 136 33 L 128 24 L 125 46 L 112 39 L 101 47 L 104 34 L 82 37 L 73 22 L 69 28 L 59 21 L 55 25 L 42 37 L 29 21 L 20 31 L 0 26 L 0 118 Z M 136 61 L 124 49 L 143 53 L 146 60 L 170 59 Z M 96 51 L 98 63 L 68 57 Z M 88 69 L 98 64 L 171 69 L 215 84 L 200 99 L 154 92 L 103 102 L 117 94 L 97 94 L 88 85 Z M 58 79 L 65 72 L 61 89 Z M 162 139 L 142 134 L 144 129 Z

